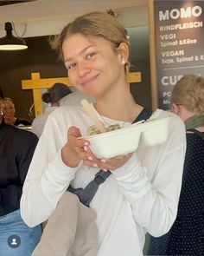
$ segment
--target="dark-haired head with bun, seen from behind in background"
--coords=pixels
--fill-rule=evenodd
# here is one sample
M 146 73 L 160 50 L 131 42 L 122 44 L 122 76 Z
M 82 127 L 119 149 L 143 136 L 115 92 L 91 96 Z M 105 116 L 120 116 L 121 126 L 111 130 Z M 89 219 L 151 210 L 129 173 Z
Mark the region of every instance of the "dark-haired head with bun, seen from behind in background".
M 60 107 L 61 99 L 71 93 L 72 91 L 67 85 L 61 82 L 56 82 L 47 93 L 41 95 L 41 99 L 42 102 L 48 103 L 48 106 L 50 107 Z

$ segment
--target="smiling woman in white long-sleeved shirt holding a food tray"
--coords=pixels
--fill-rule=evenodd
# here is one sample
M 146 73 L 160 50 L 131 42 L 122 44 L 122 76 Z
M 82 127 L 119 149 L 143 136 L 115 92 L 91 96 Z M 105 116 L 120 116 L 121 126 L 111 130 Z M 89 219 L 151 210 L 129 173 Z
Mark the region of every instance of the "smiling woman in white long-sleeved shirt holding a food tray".
M 62 30 L 59 48 L 70 81 L 95 98 L 92 109 L 101 121 L 125 127 L 142 115 L 144 108 L 134 101 L 126 80 L 129 43 L 115 17 L 80 16 Z M 86 187 L 99 169 L 111 170 L 90 204 L 97 213 L 97 255 L 142 255 L 144 234 L 167 233 L 177 212 L 185 129 L 176 115 L 163 110 L 152 117 L 167 115 L 165 143 L 138 148 L 124 158 L 97 159 L 88 141 L 79 140 L 92 125 L 84 109 L 56 109 L 48 117 L 23 187 L 22 219 L 29 226 L 47 220 L 69 184 Z

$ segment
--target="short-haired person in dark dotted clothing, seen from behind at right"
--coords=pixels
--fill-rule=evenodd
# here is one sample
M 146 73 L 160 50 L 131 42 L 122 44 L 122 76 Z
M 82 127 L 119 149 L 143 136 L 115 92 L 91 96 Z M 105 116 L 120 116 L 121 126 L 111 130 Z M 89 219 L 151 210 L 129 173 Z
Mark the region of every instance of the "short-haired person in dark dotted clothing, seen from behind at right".
M 204 77 L 184 75 L 171 109 L 186 126 L 187 152 L 177 217 L 169 233 L 150 238 L 148 255 L 204 255 Z

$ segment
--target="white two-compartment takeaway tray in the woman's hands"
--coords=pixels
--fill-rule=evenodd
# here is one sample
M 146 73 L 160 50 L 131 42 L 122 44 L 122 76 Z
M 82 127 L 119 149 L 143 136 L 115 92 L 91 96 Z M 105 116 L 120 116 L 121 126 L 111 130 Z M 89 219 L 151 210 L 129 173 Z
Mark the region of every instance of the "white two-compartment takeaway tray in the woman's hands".
M 163 143 L 168 137 L 169 116 L 164 118 L 135 123 L 126 128 L 111 132 L 83 136 L 90 141 L 92 153 L 100 158 L 112 158 L 129 154 L 138 147 L 150 147 Z

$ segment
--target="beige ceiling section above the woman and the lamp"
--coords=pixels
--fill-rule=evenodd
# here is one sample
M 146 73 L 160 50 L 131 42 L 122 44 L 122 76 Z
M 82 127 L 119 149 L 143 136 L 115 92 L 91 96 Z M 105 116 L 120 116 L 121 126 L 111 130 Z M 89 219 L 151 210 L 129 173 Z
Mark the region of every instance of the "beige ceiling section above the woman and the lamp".
M 80 16 L 91 11 L 114 10 L 125 27 L 147 23 L 148 0 L 34 0 L 0 1 L 0 36 L 4 23 L 15 23 L 16 30 L 24 30 L 24 37 L 52 35 Z M 129 25 L 130 24 L 130 25 Z

